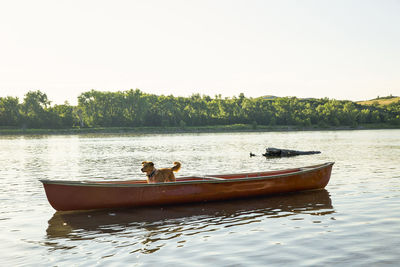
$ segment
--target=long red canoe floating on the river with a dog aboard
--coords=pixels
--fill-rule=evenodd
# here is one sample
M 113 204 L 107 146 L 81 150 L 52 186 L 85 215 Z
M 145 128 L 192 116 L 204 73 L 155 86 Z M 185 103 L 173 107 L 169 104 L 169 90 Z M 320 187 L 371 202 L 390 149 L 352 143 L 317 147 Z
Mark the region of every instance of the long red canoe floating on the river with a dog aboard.
M 179 177 L 176 182 L 40 180 L 57 211 L 160 206 L 322 189 L 333 162 L 278 171 Z

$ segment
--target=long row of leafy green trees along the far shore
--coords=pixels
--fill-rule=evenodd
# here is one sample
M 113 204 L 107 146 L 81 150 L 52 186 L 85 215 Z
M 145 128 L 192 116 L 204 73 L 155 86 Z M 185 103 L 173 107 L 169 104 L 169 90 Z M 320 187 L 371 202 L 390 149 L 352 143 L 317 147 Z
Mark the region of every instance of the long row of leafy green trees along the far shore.
M 84 92 L 78 105 L 51 105 L 41 91 L 0 97 L 0 126 L 20 128 L 212 126 L 230 124 L 357 126 L 368 123 L 400 125 L 400 102 L 387 106 L 359 105 L 334 99 L 281 97 L 232 98 L 216 95 L 174 97 L 139 89 Z

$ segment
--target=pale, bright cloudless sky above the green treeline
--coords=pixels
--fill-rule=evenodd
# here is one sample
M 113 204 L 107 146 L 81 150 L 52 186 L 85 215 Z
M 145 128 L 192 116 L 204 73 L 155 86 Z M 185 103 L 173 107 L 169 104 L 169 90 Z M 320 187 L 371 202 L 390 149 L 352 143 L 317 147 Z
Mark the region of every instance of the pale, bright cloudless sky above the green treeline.
M 400 96 L 400 0 L 0 0 L 0 97 Z

